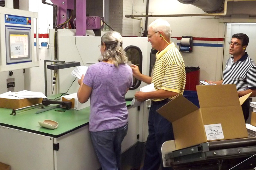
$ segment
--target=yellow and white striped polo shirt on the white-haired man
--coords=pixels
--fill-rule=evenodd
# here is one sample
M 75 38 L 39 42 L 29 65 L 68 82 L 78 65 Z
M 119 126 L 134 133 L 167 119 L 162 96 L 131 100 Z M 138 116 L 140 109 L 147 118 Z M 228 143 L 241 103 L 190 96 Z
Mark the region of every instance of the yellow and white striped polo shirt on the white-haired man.
M 155 89 L 168 90 L 183 94 L 186 83 L 186 70 L 180 51 L 171 43 L 163 51 L 156 53 L 156 63 L 152 81 Z M 169 99 L 174 99 L 172 96 Z M 163 99 L 151 99 L 161 101 Z

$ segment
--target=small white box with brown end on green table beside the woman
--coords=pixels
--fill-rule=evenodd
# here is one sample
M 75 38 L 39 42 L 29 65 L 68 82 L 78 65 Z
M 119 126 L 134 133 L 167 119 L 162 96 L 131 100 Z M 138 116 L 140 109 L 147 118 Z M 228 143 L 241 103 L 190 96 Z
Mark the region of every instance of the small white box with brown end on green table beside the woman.
M 75 109 L 75 110 L 81 110 L 85 107 L 90 106 L 90 99 L 88 99 L 88 101 L 86 101 L 85 103 L 80 103 L 78 101 L 78 98 L 77 98 L 77 93 L 73 93 L 73 94 L 63 96 L 61 98 L 61 101 L 71 101 L 72 102 L 71 108 Z

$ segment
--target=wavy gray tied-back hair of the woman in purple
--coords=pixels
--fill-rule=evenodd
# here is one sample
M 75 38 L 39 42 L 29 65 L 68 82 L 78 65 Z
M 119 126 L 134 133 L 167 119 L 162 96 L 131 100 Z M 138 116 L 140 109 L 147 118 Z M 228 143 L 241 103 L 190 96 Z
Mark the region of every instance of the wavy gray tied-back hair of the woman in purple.
M 121 63 L 127 63 L 128 58 L 122 47 L 123 39 L 120 33 L 116 31 L 105 33 L 101 37 L 101 45 L 103 45 L 103 43 L 106 45 L 106 51 L 101 54 L 98 60 L 99 62 L 112 60 L 116 67 Z

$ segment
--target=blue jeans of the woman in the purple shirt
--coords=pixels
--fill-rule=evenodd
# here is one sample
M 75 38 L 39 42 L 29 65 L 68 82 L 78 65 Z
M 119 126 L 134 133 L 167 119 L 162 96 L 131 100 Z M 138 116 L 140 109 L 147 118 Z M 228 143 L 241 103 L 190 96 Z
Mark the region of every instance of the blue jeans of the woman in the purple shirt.
M 116 129 L 90 132 L 102 170 L 121 170 L 121 143 L 127 130 L 128 123 Z

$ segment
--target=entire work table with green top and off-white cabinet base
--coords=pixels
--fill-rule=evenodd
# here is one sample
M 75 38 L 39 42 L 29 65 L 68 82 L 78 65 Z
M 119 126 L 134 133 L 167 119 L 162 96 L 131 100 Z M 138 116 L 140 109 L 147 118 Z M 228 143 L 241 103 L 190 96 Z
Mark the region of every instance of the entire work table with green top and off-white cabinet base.
M 129 106 L 131 101 L 126 102 Z M 49 108 L 56 105 L 44 106 Z M 128 107 L 129 110 L 137 108 Z M 17 110 L 16 115 L 10 115 L 12 109 L 0 108 L 0 162 L 11 166 L 12 170 L 98 170 L 100 163 L 94 152 L 90 132 L 90 107 L 81 110 L 52 108 L 38 114 L 41 106 Z M 130 119 L 138 117 L 131 114 Z M 45 119 L 59 123 L 57 129 L 46 129 L 38 124 Z M 130 121 L 130 120 L 129 120 Z M 137 121 L 131 120 L 130 128 Z M 130 123 L 129 123 L 130 125 Z M 128 127 L 129 129 L 129 127 Z M 125 142 L 124 147 L 134 144 L 137 132 L 133 138 Z M 132 142 L 129 142 L 133 139 Z M 126 150 L 126 149 L 124 149 Z

